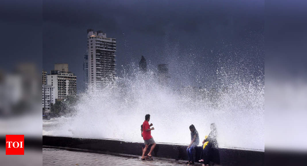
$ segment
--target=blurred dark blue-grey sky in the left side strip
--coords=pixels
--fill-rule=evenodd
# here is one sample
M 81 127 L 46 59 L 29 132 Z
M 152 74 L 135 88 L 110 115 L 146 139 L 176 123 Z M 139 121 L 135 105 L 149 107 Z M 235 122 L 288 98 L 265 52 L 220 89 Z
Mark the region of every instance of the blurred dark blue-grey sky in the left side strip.
M 42 2 L 4 0 L 0 4 L 1 70 L 18 63 L 42 66 Z

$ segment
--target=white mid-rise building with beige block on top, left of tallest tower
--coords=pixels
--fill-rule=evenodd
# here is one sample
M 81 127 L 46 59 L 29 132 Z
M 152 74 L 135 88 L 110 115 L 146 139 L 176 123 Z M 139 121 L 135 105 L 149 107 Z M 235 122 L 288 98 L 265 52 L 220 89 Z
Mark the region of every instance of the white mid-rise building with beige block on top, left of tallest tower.
M 76 75 L 68 71 L 68 64 L 55 64 L 54 70 L 47 75 L 47 84 L 55 87 L 54 94 L 56 99 L 76 95 L 76 80 Z

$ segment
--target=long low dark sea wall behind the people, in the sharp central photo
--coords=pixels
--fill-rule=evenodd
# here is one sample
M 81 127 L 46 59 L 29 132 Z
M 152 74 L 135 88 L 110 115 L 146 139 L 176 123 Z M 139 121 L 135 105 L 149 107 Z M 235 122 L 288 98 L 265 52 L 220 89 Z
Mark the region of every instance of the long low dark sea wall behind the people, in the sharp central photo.
M 117 153 L 138 155 L 142 154 L 142 143 L 123 142 L 112 139 L 73 138 L 61 136 L 43 136 L 44 147 L 60 147 L 85 149 L 88 152 Z M 153 156 L 176 160 L 187 160 L 185 145 L 158 143 Z M 201 148 L 196 149 L 196 160 L 200 159 Z M 264 165 L 264 152 L 220 148 L 221 165 Z

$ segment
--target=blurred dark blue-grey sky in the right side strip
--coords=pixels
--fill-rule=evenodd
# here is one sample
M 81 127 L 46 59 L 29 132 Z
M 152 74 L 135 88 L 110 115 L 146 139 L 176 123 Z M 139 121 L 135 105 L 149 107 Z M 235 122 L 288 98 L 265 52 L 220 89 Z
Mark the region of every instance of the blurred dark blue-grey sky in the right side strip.
M 266 3 L 266 73 L 270 80 L 307 79 L 307 1 Z

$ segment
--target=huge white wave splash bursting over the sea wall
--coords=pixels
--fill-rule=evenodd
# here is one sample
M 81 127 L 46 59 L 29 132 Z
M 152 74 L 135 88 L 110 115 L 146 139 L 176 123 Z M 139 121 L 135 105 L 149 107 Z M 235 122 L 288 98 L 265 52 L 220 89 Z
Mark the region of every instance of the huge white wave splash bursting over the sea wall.
M 218 86 L 177 88 L 161 86 L 152 71 L 134 70 L 87 90 L 74 116 L 44 120 L 43 134 L 143 142 L 140 126 L 150 114 L 156 142 L 190 143 L 191 124 L 202 140 L 216 123 L 220 147 L 264 150 L 263 77 L 247 81 L 223 68 L 216 74 Z

